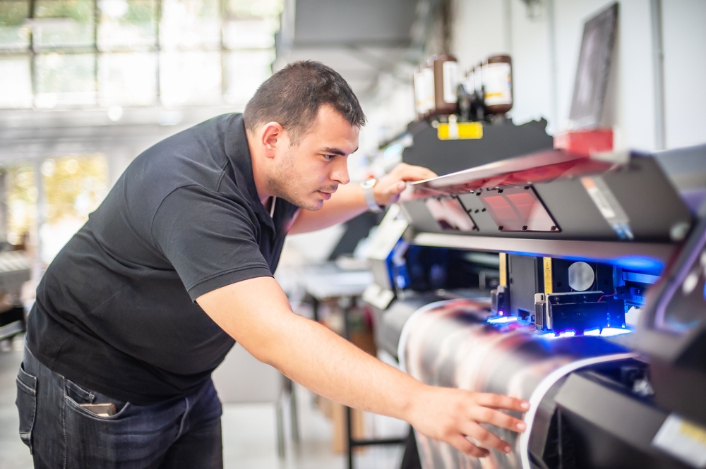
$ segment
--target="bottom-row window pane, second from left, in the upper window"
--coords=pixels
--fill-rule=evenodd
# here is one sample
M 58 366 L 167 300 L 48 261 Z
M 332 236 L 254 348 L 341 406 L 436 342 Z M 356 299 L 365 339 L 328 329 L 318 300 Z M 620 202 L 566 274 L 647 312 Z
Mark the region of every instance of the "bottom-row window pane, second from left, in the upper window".
M 37 106 L 92 104 L 95 101 L 93 54 L 41 54 L 35 60 Z

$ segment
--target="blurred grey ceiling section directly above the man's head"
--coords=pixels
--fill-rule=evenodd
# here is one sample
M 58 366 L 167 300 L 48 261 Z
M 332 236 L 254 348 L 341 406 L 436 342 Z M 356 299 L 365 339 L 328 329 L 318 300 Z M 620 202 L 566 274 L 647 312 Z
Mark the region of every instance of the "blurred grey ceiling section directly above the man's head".
M 393 72 L 400 61 L 417 60 L 410 52 L 420 39 L 424 42 L 431 3 L 287 0 L 273 71 L 292 61 L 321 61 L 340 73 L 361 97 L 373 90 L 381 73 Z

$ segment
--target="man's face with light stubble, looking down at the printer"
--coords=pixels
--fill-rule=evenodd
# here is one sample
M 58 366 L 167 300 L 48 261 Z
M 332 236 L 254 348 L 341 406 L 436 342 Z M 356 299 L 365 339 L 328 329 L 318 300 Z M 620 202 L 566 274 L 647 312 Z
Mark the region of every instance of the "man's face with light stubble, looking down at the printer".
M 358 148 L 359 128 L 333 107 L 318 110 L 316 122 L 299 143 L 282 148 L 268 187 L 277 197 L 307 210 L 318 210 L 339 184 L 347 184 L 347 157 Z

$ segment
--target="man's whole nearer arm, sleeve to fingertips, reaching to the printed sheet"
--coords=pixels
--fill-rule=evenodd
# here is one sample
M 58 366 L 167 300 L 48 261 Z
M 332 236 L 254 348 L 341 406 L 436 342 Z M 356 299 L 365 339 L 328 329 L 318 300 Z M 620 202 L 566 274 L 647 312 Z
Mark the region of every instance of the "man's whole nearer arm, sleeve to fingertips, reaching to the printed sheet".
M 486 448 L 510 451 L 481 423 L 525 430 L 522 420 L 496 410 L 524 412 L 529 408 L 525 401 L 422 384 L 321 324 L 295 315 L 271 277 L 239 281 L 196 301 L 255 358 L 294 381 L 346 406 L 407 420 L 428 437 L 472 456 L 486 456 L 488 451 L 466 436 Z

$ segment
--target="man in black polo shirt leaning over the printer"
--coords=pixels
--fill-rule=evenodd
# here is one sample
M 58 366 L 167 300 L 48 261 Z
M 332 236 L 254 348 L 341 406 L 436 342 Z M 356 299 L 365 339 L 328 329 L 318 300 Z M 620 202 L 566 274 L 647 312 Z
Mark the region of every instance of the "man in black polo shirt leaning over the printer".
M 234 341 L 347 406 L 474 456 L 509 451 L 479 423 L 522 431 L 496 409 L 526 402 L 421 384 L 294 315 L 272 277 L 287 232 L 368 209 L 364 188 L 345 185 L 363 123 L 340 75 L 299 62 L 263 83 L 243 115 L 135 159 L 37 288 L 17 400 L 35 468 L 222 467 L 210 373 Z M 388 205 L 406 181 L 430 176 L 397 166 L 368 198 Z

